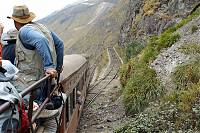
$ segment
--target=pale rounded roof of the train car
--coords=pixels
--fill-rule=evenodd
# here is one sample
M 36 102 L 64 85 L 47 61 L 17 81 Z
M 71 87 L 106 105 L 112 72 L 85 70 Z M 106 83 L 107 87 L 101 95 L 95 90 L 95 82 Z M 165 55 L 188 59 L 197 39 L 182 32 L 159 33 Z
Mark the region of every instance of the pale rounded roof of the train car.
M 72 73 L 77 71 L 86 62 L 86 58 L 79 54 L 65 55 L 63 59 L 63 72 L 60 80 L 67 78 Z

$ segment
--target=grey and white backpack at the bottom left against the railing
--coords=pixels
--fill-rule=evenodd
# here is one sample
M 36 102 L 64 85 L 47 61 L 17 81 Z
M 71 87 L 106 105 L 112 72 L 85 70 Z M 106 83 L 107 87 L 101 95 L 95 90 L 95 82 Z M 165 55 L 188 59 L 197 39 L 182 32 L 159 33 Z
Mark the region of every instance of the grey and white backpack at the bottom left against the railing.
M 18 133 L 20 128 L 18 104 L 14 100 L 22 101 L 15 87 L 10 82 L 0 82 L 0 105 L 9 101 L 11 108 L 0 115 L 1 133 Z

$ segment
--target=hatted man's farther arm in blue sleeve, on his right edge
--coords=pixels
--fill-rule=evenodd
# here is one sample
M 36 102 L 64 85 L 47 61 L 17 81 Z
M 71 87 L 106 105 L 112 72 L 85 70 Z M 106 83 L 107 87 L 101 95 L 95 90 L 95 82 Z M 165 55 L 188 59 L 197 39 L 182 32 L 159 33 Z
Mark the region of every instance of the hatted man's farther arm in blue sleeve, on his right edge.
M 51 35 L 53 37 L 55 49 L 56 49 L 56 55 L 57 55 L 57 64 L 56 64 L 56 70 L 58 72 L 62 71 L 63 66 L 63 57 L 64 57 L 64 45 L 62 40 L 54 33 L 51 32 Z

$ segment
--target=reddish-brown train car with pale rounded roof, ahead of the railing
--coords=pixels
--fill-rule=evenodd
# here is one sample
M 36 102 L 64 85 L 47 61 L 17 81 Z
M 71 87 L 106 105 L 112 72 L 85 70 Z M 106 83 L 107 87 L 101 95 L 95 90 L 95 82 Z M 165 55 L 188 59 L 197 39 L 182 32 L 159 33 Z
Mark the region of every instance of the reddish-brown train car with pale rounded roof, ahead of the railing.
M 81 55 L 64 57 L 64 70 L 60 77 L 62 91 L 67 94 L 63 107 L 60 132 L 75 133 L 89 86 L 89 61 Z M 77 103 L 77 91 L 81 92 L 82 104 Z

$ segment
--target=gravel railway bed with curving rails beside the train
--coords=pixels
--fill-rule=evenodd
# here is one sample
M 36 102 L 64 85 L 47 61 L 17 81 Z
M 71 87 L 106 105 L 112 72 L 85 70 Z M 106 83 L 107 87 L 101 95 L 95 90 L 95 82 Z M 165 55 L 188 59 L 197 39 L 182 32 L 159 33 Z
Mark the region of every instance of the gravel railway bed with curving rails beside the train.
M 117 76 L 122 62 L 113 48 L 108 48 L 107 51 L 109 54 L 108 67 L 102 78 L 88 89 L 77 133 L 97 133 L 103 131 L 101 130 L 102 123 L 106 123 L 107 118 L 112 117 L 110 114 L 114 114 L 111 112 L 116 112 L 115 110 L 118 108 L 117 105 L 112 103 L 111 98 L 112 96 L 117 96 L 116 92 L 119 90 L 115 86 L 118 83 Z M 121 119 L 121 115 L 113 117 L 115 122 L 118 119 Z

